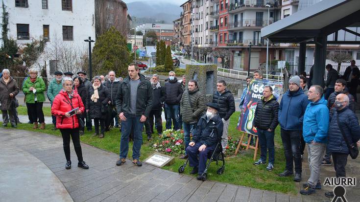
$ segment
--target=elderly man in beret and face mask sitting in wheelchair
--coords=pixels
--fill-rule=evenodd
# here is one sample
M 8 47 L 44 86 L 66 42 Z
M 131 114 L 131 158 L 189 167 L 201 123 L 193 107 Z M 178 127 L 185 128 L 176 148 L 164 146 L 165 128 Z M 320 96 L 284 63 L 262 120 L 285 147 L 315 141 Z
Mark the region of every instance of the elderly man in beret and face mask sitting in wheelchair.
M 197 180 L 202 180 L 202 174 L 206 168 L 208 154 L 212 154 L 216 144 L 221 138 L 223 123 L 217 113 L 219 107 L 216 103 L 208 103 L 206 115 L 203 115 L 196 125 L 192 141 L 186 148 L 189 155 L 190 166 L 193 167 L 191 174 L 198 174 Z M 199 156 L 199 159 L 197 158 Z

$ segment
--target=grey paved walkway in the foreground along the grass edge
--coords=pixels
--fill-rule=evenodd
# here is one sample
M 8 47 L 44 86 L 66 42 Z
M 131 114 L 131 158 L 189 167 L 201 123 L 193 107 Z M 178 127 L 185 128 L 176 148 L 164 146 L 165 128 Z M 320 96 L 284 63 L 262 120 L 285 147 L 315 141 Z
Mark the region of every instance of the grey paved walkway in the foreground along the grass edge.
M 0 147 L 5 145 L 17 148 L 17 150 L 41 160 L 61 180 L 74 202 L 330 201 L 324 197 L 325 191 L 313 196 L 285 195 L 210 180 L 203 182 L 194 177 L 170 172 L 145 163 L 142 167 L 136 167 L 131 160 L 127 160 L 122 166 L 116 166 L 117 154 L 83 143 L 84 160 L 90 169 L 83 170 L 76 167 L 77 159 L 72 148 L 72 168 L 66 170 L 62 139 L 52 135 L 0 129 Z M 307 165 L 303 167 L 307 167 Z M 359 176 L 359 161 L 357 161 L 357 165 L 350 167 L 351 172 L 356 172 Z M 305 174 L 306 172 L 308 171 L 304 169 Z M 307 177 L 304 175 L 303 180 L 306 179 Z M 297 186 L 300 189 L 300 183 Z M 359 186 L 355 187 L 349 197 L 358 201 L 359 191 Z

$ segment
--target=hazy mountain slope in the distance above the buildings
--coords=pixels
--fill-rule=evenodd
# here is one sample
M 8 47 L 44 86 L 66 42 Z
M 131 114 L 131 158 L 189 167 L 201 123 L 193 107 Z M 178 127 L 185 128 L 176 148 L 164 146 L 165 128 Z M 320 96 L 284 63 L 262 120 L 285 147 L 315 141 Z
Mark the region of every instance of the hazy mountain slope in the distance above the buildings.
M 172 23 L 180 18 L 182 8 L 179 5 L 166 2 L 142 2 L 127 3 L 128 13 L 136 19 L 136 25 L 144 23 Z

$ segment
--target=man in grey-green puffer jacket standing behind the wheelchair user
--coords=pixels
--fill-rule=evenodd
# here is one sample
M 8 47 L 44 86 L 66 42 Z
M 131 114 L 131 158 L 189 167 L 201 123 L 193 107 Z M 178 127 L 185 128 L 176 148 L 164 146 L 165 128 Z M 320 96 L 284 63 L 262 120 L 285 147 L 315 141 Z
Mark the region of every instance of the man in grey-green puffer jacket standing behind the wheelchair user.
M 194 134 L 197 121 L 201 114 L 205 112 L 205 95 L 199 91 L 197 82 L 190 80 L 188 89 L 184 91 L 180 100 L 180 112 L 183 117 L 183 129 L 184 129 L 184 142 L 185 148 L 190 143 L 190 134 Z M 187 158 L 188 155 L 185 151 L 185 156 L 180 158 Z

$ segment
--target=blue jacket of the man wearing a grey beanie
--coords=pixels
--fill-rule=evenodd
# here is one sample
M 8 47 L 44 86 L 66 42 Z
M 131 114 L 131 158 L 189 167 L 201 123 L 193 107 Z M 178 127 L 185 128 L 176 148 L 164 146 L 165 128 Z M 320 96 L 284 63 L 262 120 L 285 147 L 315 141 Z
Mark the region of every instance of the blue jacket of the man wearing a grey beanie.
M 278 120 L 280 127 L 289 131 L 301 131 L 303 117 L 308 105 L 308 96 L 303 90 L 296 92 L 288 90 L 281 99 Z

